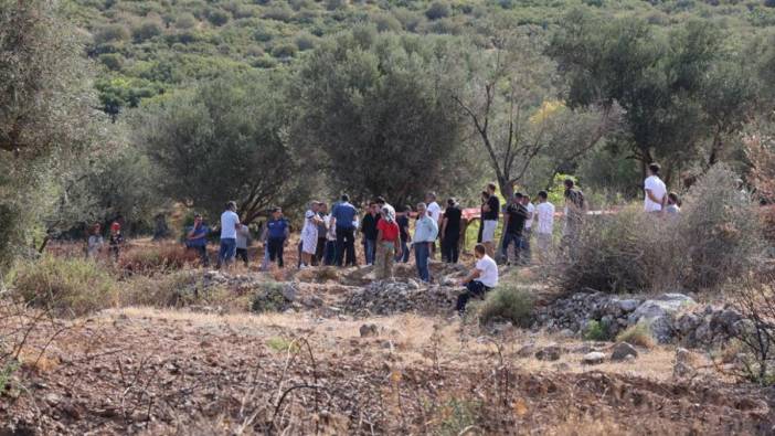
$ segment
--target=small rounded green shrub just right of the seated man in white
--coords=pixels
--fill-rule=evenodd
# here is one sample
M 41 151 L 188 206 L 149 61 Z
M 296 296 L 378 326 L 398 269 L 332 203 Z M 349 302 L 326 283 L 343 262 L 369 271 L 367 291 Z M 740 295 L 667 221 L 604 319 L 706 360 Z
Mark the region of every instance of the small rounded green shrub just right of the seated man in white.
M 533 297 L 525 289 L 513 284 L 503 284 L 489 293 L 480 305 L 479 320 L 489 323 L 505 319 L 518 327 L 530 327 L 533 302 Z

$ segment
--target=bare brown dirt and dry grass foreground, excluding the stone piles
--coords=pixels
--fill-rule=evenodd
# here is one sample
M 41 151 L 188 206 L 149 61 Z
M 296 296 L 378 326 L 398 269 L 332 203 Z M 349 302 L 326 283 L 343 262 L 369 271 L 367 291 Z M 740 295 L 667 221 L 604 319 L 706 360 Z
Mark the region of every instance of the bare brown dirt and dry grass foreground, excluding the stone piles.
M 375 334 L 361 337 L 364 323 Z M 773 392 L 710 370 L 675 381 L 673 348 L 585 366 L 573 351 L 556 362 L 519 352 L 577 341 L 478 334 L 411 313 L 127 308 L 49 320 L 22 353 L 24 387 L 0 397 L 0 435 L 773 434 Z

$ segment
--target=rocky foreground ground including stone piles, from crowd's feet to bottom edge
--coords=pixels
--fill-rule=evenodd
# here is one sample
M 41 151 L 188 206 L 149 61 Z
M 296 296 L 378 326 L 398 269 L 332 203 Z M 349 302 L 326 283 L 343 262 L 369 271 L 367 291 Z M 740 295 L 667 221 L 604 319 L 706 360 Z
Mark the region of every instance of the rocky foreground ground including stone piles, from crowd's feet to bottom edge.
M 319 268 L 267 287 L 264 275 L 198 272 L 198 291 L 262 289 L 279 311 L 38 320 L 0 396 L 0 435 L 775 432 L 772 390 L 735 383 L 680 343 L 703 337 L 701 326 L 711 342 L 739 326 L 729 308 L 675 295 L 542 296 L 533 329 L 476 326 L 452 313 L 465 268 L 434 273 L 425 287 L 405 266 L 380 283 L 368 268 Z M 672 339 L 655 348 L 580 338 L 590 320 L 660 317 L 650 326 Z

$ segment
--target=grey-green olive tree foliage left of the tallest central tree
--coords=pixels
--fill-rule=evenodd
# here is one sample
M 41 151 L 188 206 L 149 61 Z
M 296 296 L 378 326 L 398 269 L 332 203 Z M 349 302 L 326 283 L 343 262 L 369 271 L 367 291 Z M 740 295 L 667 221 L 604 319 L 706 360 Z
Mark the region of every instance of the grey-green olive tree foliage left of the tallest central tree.
M 293 177 L 282 88 L 278 75 L 238 75 L 144 107 L 132 120 L 135 142 L 160 169 L 160 192 L 209 217 L 236 200 L 245 223 L 273 204 L 299 201 L 307 187 Z

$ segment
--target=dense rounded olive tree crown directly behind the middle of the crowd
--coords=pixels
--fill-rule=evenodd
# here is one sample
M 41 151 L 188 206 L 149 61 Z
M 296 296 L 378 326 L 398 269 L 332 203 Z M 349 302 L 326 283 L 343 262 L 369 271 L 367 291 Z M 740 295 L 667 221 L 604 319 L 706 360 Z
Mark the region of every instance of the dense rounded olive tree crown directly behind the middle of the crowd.
M 403 202 L 460 182 L 442 172 L 465 156 L 459 114 L 443 91 L 455 77 L 426 73 L 443 68 L 447 44 L 360 26 L 306 59 L 293 95 L 297 141 L 325 153 L 336 189 Z M 352 171 L 353 162 L 380 163 Z

